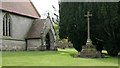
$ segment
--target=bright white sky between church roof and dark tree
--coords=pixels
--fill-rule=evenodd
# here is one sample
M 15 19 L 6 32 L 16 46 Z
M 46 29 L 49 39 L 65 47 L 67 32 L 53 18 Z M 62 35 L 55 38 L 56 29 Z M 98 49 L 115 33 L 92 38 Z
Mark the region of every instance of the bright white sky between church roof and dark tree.
M 48 12 L 51 15 L 53 15 L 53 13 L 58 14 L 59 10 L 58 0 L 31 0 L 31 1 L 33 2 L 34 6 L 40 13 L 41 18 L 46 18 Z M 56 8 L 57 11 L 54 11 L 52 5 Z

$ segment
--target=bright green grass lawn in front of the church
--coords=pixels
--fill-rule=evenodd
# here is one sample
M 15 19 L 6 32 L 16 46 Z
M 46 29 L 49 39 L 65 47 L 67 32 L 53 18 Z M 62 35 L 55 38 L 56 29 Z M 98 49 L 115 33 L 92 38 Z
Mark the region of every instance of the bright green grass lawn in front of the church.
M 118 66 L 117 57 L 74 58 L 74 49 L 2 53 L 3 66 Z

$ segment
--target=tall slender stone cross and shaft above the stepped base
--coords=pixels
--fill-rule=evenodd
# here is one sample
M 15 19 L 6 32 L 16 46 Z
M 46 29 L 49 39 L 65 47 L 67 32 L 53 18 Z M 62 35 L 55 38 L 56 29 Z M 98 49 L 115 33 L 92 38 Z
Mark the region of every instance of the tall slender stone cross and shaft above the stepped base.
M 92 14 L 90 14 L 89 11 L 87 11 L 87 15 L 85 15 L 85 17 L 87 17 L 87 43 L 86 45 L 92 45 L 92 40 L 90 39 L 90 16 L 92 16 Z

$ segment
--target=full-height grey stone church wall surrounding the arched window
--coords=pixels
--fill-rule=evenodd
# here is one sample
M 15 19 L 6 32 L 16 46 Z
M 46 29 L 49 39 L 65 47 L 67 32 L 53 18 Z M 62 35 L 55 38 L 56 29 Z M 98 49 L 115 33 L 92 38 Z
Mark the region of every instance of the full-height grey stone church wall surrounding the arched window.
M 3 17 L 8 12 L 0 12 L 0 43 L 2 43 L 2 50 L 25 50 L 26 49 L 26 35 L 29 31 L 34 19 L 9 13 L 11 17 L 11 36 L 3 36 Z M 0 48 L 1 49 L 1 48 Z

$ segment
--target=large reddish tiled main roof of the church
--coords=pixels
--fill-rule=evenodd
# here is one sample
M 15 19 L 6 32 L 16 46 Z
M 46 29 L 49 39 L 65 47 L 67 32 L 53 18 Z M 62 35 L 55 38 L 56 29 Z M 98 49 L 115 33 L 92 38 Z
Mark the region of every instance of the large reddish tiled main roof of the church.
M 0 3 L 0 9 L 24 16 L 40 18 L 39 13 L 30 0 L 20 0 L 20 2 L 18 0 L 12 1 L 13 0 L 4 0 Z

